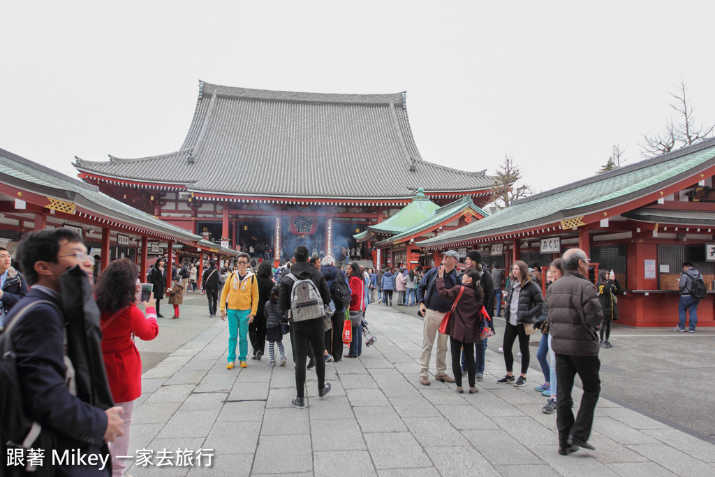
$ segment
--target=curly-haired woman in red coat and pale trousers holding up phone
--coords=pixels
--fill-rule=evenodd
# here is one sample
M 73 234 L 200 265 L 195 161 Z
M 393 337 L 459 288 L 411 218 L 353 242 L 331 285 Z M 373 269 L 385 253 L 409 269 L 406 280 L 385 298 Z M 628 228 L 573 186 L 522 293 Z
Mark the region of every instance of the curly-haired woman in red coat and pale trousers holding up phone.
M 134 400 L 142 395 L 142 358 L 134 346 L 133 336 L 137 335 L 142 340 L 153 340 L 159 334 L 153 294 L 148 302 L 142 303 L 146 316 L 137 307 L 137 275 L 139 268 L 131 260 L 114 260 L 102 275 L 99 275 L 97 287 L 94 289 L 97 305 L 99 310 L 102 310 L 104 368 L 107 370 L 114 403 L 124 409 L 124 436 L 109 445 L 114 477 L 120 477 L 124 472 L 124 458 L 115 456 L 127 456 Z

